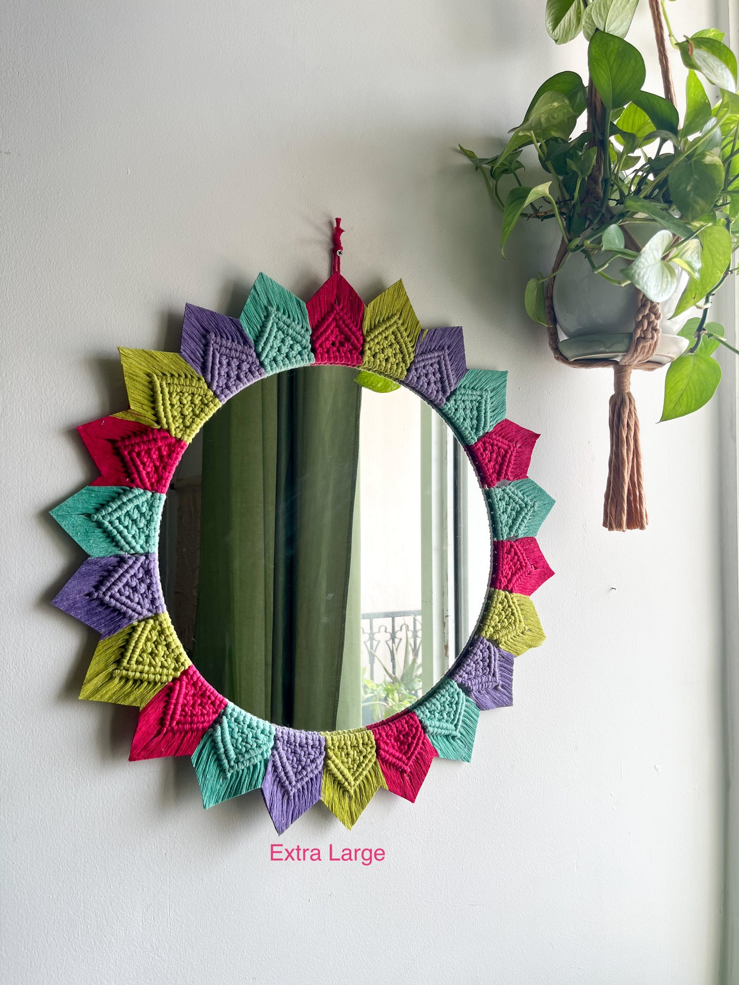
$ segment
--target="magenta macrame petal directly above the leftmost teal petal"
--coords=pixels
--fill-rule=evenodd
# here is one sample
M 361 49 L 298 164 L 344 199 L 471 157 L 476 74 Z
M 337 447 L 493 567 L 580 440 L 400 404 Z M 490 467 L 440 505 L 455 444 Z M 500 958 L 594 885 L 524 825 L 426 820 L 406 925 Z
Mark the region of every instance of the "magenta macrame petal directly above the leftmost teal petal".
M 166 430 L 108 417 L 77 428 L 101 475 L 93 486 L 167 493 L 187 444 Z

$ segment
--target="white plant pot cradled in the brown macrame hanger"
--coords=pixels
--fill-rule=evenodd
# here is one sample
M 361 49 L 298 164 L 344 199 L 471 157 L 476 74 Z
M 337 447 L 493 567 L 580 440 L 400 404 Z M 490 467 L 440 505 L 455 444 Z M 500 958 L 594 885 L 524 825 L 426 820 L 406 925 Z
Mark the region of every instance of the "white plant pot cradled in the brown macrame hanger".
M 624 260 L 616 257 L 606 273 L 621 277 L 624 265 Z M 671 362 L 688 348 L 688 339 L 677 333 L 698 309 L 690 308 L 672 317 L 687 283 L 688 274 L 681 270 L 677 288 L 660 305 L 661 338 L 653 357 L 655 362 Z M 619 288 L 609 284 L 593 274 L 582 253 L 574 253 L 555 278 L 552 302 L 560 331 L 560 351 L 567 359 L 605 357 L 618 361 L 626 354 L 637 314 L 637 289 L 633 285 Z

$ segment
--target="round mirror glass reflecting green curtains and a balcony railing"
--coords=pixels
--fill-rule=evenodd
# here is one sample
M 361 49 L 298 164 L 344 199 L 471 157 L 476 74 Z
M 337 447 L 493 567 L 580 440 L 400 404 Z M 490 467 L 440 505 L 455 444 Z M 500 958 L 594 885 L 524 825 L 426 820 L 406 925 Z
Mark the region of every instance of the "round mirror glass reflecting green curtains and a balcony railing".
M 400 711 L 447 670 L 490 582 L 485 499 L 410 390 L 305 366 L 236 394 L 165 505 L 168 611 L 200 673 L 252 714 L 328 731 Z

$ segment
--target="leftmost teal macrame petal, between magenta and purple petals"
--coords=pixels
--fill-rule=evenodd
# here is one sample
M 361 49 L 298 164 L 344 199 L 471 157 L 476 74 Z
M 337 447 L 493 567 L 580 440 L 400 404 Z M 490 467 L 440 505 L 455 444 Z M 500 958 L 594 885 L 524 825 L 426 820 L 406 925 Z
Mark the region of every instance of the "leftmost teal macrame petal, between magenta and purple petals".
M 163 493 L 125 486 L 87 486 L 51 515 L 92 558 L 154 554 L 165 503 Z

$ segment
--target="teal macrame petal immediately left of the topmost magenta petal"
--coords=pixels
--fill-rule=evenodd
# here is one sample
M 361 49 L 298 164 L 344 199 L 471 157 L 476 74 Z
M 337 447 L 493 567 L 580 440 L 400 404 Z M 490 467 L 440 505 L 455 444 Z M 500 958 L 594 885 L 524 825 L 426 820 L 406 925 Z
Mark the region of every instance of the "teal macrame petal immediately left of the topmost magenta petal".
M 240 320 L 266 373 L 315 361 L 304 301 L 266 274 L 254 282 Z

